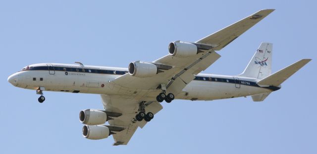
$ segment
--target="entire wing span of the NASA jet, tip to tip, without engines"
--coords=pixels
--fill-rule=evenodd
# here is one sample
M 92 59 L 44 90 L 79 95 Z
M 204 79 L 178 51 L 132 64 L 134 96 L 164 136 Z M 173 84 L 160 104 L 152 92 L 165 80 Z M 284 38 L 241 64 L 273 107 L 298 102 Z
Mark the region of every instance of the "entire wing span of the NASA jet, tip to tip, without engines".
M 156 114 L 162 109 L 160 103 L 156 101 L 156 96 L 161 92 L 159 86 L 165 85 L 166 92 L 173 93 L 177 97 L 182 93 L 183 88 L 195 79 L 196 74 L 208 68 L 220 57 L 215 50 L 222 49 L 272 11 L 272 9 L 261 10 L 196 43 L 191 43 L 197 48 L 200 47 L 200 51 L 195 55 L 181 57 L 168 54 L 154 60 L 151 63 L 163 69 L 159 69 L 153 76 L 136 77 L 126 73 L 109 81 L 105 86 L 116 95 L 102 95 L 105 110 L 122 115 L 108 122 L 110 126 L 124 128 L 114 132 L 113 145 L 126 145 L 138 126 L 142 128 L 146 124 L 144 120 L 141 122 L 134 120 L 141 102 L 145 102 L 147 112 Z

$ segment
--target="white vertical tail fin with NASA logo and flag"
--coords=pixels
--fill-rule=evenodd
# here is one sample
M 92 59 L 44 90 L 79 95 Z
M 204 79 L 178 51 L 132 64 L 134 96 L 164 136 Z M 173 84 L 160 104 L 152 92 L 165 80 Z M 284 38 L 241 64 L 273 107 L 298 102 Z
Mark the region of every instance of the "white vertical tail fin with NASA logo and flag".
M 238 76 L 263 79 L 271 74 L 272 44 L 262 43 L 246 69 Z

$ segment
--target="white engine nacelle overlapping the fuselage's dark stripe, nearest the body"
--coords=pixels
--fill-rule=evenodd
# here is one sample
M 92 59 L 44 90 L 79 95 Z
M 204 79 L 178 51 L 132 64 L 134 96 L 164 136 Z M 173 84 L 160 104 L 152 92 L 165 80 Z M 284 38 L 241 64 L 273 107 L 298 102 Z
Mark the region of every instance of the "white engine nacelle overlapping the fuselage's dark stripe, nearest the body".
M 129 64 L 129 74 L 136 77 L 150 77 L 158 74 L 158 67 L 150 62 L 135 61 Z

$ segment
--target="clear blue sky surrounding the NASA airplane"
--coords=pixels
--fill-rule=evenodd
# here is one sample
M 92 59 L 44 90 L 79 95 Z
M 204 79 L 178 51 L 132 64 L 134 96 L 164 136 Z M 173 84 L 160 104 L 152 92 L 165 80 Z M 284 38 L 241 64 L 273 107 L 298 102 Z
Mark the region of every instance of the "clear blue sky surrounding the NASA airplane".
M 317 154 L 316 6 L 314 0 L 1 0 L 0 151 Z M 273 72 L 313 60 L 262 103 L 250 97 L 163 103 L 128 146 L 82 137 L 79 111 L 103 108 L 99 95 L 45 92 L 41 104 L 35 91 L 7 82 L 33 63 L 153 61 L 168 53 L 169 42 L 197 41 L 264 8 L 276 10 L 219 51 L 204 73 L 239 74 L 261 42 L 273 43 Z

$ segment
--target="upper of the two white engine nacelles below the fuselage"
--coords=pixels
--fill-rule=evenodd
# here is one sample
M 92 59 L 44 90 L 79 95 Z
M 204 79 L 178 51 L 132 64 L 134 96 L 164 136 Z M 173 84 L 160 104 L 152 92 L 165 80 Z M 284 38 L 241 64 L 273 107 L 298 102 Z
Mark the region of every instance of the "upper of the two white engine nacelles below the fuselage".
M 107 121 L 107 114 L 100 110 L 86 109 L 79 112 L 79 120 L 87 125 L 100 125 Z

